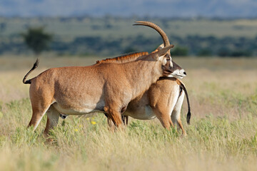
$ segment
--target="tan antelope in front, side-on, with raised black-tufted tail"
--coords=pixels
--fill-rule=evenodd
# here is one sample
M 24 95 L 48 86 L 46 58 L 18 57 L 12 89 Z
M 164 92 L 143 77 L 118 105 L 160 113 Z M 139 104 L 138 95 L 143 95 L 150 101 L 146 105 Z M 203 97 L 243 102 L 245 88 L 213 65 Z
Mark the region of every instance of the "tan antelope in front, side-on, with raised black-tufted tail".
M 116 127 L 121 127 L 121 114 L 129 102 L 143 95 L 158 78 L 172 76 L 176 70 L 167 53 L 170 48 L 173 45 L 128 63 L 50 68 L 26 81 L 29 73 L 38 66 L 37 60 L 23 80 L 23 83 L 31 84 L 32 117 L 29 126 L 34 126 L 35 130 L 48 111 L 44 131 L 47 135 L 49 129 L 58 123 L 60 113 L 84 115 L 101 111 Z

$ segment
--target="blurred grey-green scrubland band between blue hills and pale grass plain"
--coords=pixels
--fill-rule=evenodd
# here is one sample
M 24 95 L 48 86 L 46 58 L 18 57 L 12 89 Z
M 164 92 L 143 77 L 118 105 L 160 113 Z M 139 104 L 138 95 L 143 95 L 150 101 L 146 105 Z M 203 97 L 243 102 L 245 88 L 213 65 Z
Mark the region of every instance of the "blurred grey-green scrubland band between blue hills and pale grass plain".
M 171 43 L 183 47 L 183 56 L 257 56 L 256 19 L 139 19 L 103 18 L 0 18 L 0 54 L 28 53 L 19 33 L 45 26 L 53 34 L 49 50 L 59 55 L 116 56 L 131 51 L 152 51 L 162 43 L 151 28 L 132 26 L 152 21 L 163 28 Z M 179 48 L 174 54 L 180 55 Z

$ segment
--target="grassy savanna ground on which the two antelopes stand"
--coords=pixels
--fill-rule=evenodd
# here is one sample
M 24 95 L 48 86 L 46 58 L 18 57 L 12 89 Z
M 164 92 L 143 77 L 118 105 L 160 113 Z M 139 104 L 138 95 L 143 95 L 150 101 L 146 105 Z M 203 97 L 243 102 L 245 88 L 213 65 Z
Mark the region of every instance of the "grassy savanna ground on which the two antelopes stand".
M 39 68 L 82 66 L 98 58 L 41 57 Z M 103 114 L 60 119 L 54 143 L 34 133 L 29 86 L 21 81 L 35 58 L 0 58 L 0 170 L 257 170 L 257 59 L 174 58 L 185 68 L 191 100 L 181 118 L 188 134 L 165 130 L 157 119 L 130 118 L 111 133 Z

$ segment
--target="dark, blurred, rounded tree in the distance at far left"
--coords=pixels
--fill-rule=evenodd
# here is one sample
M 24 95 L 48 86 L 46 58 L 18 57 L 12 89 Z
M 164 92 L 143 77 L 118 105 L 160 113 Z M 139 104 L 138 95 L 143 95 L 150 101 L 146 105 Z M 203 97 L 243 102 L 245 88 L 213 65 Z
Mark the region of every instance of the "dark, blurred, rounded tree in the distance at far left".
M 52 40 L 52 35 L 44 31 L 44 27 L 28 28 L 26 33 L 21 33 L 26 46 L 28 46 L 36 55 L 48 48 Z

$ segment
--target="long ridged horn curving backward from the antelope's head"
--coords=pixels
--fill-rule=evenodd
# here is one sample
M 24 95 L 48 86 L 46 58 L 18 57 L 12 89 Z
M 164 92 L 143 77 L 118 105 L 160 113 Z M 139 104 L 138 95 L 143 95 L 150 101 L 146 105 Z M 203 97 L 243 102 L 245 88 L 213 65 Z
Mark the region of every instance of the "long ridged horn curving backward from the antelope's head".
M 151 27 L 153 29 L 155 29 L 156 31 L 158 31 L 158 33 L 161 35 L 161 38 L 163 39 L 163 43 L 164 43 L 164 47 L 169 46 L 170 43 L 168 41 L 168 36 L 166 35 L 166 33 L 156 24 L 153 24 L 149 21 L 136 21 L 136 24 L 133 24 L 133 26 L 148 26 Z M 168 54 L 171 54 L 171 51 L 168 51 Z

